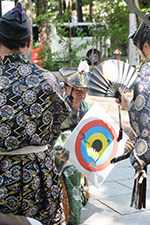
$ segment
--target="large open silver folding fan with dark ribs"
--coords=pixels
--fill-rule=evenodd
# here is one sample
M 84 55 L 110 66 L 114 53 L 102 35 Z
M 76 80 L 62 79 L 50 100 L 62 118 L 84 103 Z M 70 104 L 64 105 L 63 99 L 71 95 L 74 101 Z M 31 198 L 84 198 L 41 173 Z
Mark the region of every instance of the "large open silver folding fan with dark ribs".
M 133 86 L 138 72 L 120 60 L 105 60 L 92 72 L 89 80 L 89 95 L 119 98 L 118 88 L 126 93 Z

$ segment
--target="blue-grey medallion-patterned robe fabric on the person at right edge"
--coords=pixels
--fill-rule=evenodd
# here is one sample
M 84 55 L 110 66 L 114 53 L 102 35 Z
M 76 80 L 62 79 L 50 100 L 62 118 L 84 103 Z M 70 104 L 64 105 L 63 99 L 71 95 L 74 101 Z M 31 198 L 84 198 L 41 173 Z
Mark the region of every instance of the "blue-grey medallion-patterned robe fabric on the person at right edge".
M 144 163 L 150 163 L 150 57 L 141 65 L 141 78 L 135 84 L 129 108 L 130 123 L 137 137 L 135 151 Z M 133 155 L 132 155 L 133 157 Z M 132 159 L 134 161 L 134 159 Z M 136 166 L 136 165 L 135 165 Z

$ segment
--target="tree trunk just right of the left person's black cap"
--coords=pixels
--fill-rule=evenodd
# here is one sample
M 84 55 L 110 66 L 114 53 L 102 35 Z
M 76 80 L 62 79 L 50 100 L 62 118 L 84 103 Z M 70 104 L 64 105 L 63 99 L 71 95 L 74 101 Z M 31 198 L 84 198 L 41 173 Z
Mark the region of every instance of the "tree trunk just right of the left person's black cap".
M 39 32 L 42 37 L 42 42 L 44 46 L 50 48 L 50 28 L 49 28 L 49 16 L 47 0 L 37 0 L 37 16 L 45 15 L 44 19 L 37 21 Z

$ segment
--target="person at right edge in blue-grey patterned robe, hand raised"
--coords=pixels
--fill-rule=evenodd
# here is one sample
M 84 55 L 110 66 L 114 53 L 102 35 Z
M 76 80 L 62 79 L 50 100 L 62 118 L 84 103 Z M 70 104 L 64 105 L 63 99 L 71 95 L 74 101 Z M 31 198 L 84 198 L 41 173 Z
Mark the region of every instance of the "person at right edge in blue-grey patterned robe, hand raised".
M 146 16 L 150 19 L 149 14 Z M 146 172 L 150 163 L 150 28 L 142 21 L 130 37 L 141 57 L 140 77 L 134 85 L 131 103 L 121 88 L 121 102 L 117 103 L 128 110 L 135 134 L 135 144 L 130 151 L 130 162 L 135 169 L 131 206 L 141 209 L 146 208 Z

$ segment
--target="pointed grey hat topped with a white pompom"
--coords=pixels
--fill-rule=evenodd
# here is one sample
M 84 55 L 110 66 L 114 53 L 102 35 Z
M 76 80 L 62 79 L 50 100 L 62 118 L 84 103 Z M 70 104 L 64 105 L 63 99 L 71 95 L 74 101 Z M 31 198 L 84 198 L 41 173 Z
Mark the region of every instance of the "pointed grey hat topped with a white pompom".
M 76 89 L 88 89 L 90 72 L 85 62 L 81 63 L 79 64 L 79 68 L 61 68 L 59 72 L 65 83 L 69 86 Z M 84 66 L 82 67 L 82 65 Z

